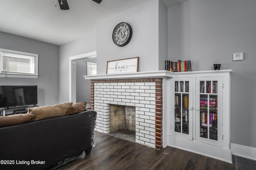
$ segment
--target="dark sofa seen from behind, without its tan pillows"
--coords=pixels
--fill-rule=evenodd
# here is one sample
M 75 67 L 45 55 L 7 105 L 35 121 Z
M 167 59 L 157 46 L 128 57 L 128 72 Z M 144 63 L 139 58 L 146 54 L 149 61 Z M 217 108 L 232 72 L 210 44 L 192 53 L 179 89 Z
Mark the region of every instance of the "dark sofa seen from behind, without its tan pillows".
M 1 170 L 55 169 L 95 145 L 96 112 L 86 110 L 0 127 Z

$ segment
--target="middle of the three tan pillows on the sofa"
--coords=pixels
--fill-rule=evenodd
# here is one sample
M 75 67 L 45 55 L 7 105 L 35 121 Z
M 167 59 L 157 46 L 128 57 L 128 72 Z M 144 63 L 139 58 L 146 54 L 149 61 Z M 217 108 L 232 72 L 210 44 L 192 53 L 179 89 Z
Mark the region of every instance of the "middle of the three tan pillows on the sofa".
M 41 106 L 28 109 L 28 112 L 35 115 L 33 121 L 47 119 L 51 117 L 64 116 L 72 106 L 72 102 L 56 104 L 53 106 Z

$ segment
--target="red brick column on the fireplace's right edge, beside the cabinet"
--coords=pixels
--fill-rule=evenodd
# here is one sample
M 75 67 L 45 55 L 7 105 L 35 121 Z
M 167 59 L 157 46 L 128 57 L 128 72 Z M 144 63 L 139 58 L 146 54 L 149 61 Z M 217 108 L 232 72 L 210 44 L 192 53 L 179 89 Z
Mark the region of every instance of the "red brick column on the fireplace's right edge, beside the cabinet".
M 156 149 L 163 148 L 163 89 L 162 78 L 156 78 Z

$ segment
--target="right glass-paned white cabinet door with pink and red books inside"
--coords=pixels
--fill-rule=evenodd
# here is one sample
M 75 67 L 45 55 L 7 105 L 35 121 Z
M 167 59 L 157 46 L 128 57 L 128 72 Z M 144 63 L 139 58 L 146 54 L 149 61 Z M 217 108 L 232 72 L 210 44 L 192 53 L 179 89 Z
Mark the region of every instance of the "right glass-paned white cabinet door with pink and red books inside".
M 198 80 L 199 79 L 199 80 Z M 216 78 L 197 79 L 196 98 L 196 131 L 197 141 L 222 145 L 222 111 L 220 97 L 222 93 L 222 80 Z M 205 80 L 206 79 L 206 80 Z M 208 80 L 209 79 L 209 80 Z M 221 87 L 221 88 L 220 88 Z M 219 111 L 220 109 L 220 111 Z M 220 121 L 219 121 L 220 118 Z

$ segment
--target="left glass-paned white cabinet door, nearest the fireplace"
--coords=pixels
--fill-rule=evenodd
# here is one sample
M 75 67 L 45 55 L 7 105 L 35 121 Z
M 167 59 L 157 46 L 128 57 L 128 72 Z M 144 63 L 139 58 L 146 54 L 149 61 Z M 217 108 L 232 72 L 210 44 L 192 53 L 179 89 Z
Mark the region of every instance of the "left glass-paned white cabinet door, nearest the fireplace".
M 174 134 L 192 140 L 192 80 L 176 78 L 174 81 Z M 191 104 L 190 104 L 191 102 Z

